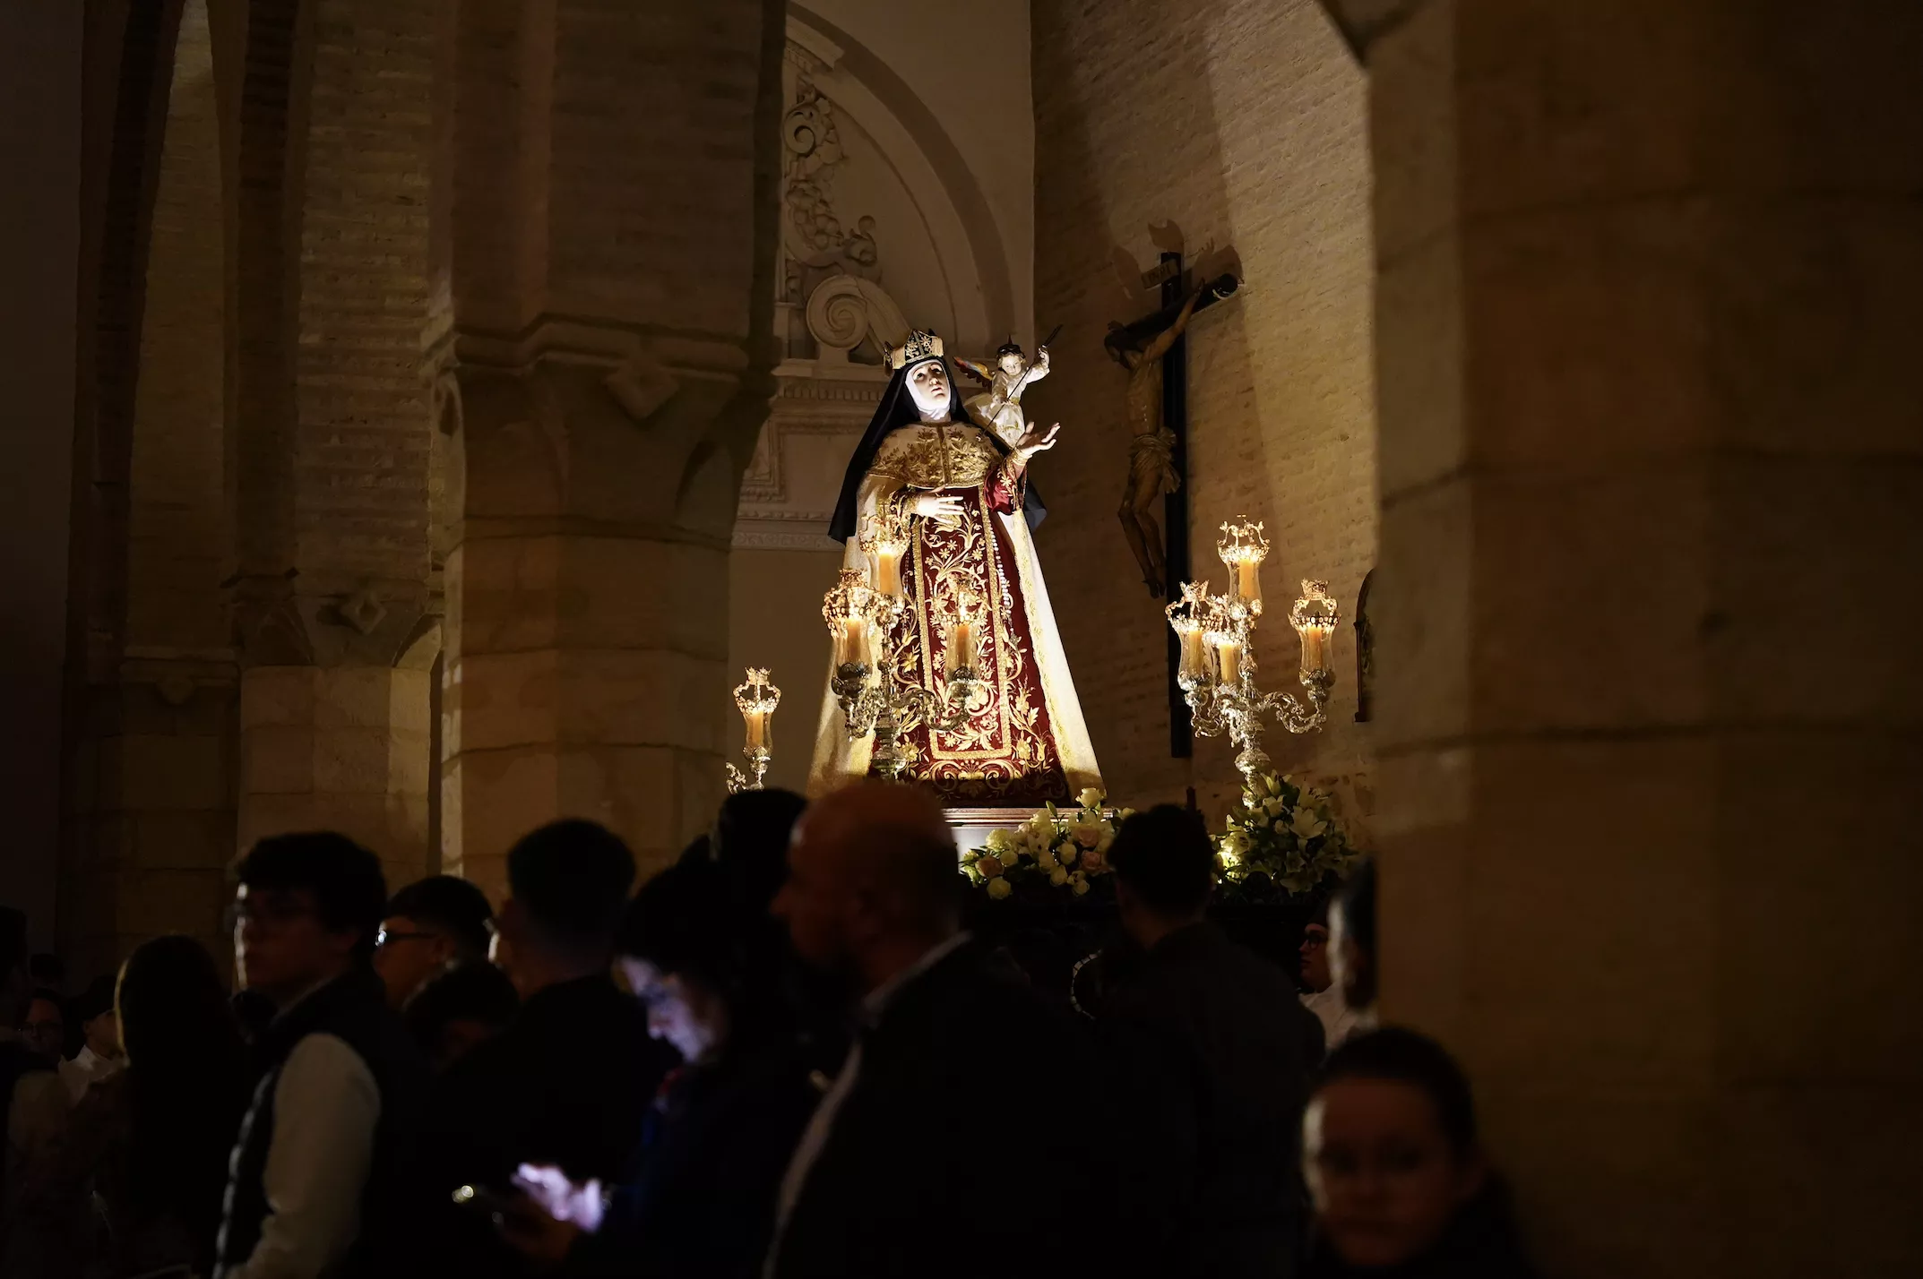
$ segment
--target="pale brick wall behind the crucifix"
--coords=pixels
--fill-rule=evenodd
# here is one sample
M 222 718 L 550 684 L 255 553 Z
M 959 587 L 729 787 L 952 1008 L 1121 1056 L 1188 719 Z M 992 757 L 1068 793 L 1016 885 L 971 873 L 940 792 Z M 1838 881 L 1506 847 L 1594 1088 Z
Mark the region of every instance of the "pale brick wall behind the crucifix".
M 1061 419 L 1036 464 L 1038 533 L 1075 685 L 1117 802 L 1179 800 L 1219 814 L 1233 748 L 1167 750 L 1165 621 L 1140 585 L 1115 508 L 1127 477 L 1123 371 L 1111 319 L 1152 308 L 1123 287 L 1121 254 L 1150 265 L 1150 223 L 1175 221 L 1196 258 L 1213 240 L 1242 263 L 1242 292 L 1204 312 L 1188 342 L 1192 569 L 1223 581 L 1215 527 L 1267 523 L 1258 633 L 1263 687 L 1294 689 L 1281 614 L 1300 577 L 1342 604 L 1331 725 L 1273 733 L 1279 771 L 1342 779 L 1365 819 L 1369 725 L 1356 714 L 1356 590 L 1375 558 L 1369 142 L 1365 83 L 1310 0 L 1035 2 L 1036 331 L 1063 325 L 1054 375 L 1029 417 Z

